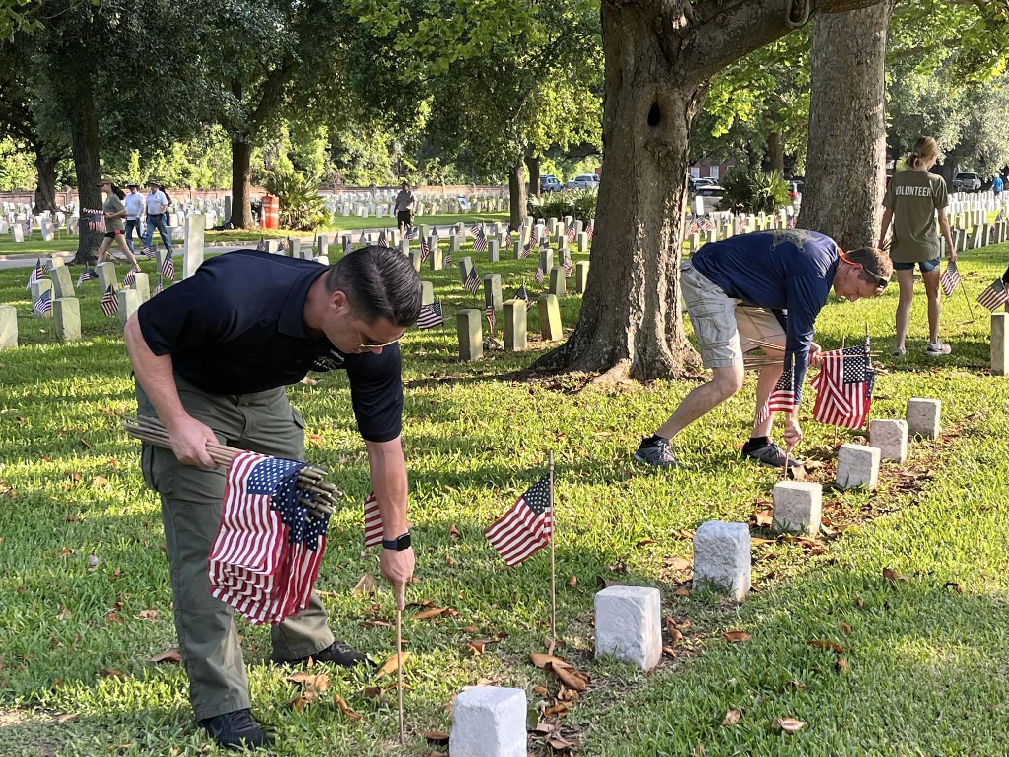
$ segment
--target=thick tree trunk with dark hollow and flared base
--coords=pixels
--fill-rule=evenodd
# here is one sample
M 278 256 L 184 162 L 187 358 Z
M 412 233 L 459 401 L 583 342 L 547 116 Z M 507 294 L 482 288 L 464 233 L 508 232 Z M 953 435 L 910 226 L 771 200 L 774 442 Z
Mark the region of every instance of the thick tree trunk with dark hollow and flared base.
M 602 180 L 578 325 L 537 367 L 680 372 L 694 355 L 679 308 L 687 139 L 703 89 L 669 58 L 648 6 L 603 3 Z M 635 11 L 638 12 L 635 12 Z

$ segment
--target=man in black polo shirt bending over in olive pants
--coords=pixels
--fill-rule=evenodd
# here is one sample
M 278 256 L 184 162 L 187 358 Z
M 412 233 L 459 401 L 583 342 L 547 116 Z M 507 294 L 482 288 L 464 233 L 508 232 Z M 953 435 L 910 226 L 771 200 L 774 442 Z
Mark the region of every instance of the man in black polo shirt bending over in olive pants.
M 145 444 L 142 468 L 161 497 L 176 630 L 197 719 L 225 746 L 259 745 L 233 611 L 211 597 L 207 560 L 225 471 L 207 442 L 304 459 L 305 421 L 285 387 L 309 370 L 344 368 L 384 525 L 381 573 L 404 607 L 414 572 L 407 467 L 400 441 L 403 383 L 396 343 L 417 321 L 421 283 L 410 259 L 366 247 L 323 266 L 253 250 L 214 257 L 140 307 L 124 338 L 141 415 L 169 429 L 172 450 Z M 273 660 L 350 666 L 313 592 L 273 626 Z

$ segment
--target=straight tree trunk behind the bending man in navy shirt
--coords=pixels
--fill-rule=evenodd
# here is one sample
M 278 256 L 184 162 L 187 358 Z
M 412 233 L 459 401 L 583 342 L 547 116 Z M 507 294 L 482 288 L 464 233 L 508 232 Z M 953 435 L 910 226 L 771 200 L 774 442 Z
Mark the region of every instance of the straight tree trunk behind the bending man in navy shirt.
M 885 0 L 813 21 L 809 149 L 798 225 L 833 237 L 844 249 L 879 240 L 892 11 L 893 0 Z

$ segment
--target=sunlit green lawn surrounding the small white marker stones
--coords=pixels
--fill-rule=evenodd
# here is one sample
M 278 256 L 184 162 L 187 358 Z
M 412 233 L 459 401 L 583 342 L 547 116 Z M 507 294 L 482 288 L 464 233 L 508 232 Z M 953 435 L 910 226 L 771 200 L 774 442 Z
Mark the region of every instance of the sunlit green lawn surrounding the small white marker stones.
M 473 257 L 481 275 L 501 274 L 506 296 L 523 282 L 534 294 L 540 289 L 533 258 L 488 264 Z M 962 255 L 972 298 L 1007 258 L 1009 245 Z M 18 308 L 23 345 L 0 353 L 0 754 L 216 754 L 193 722 L 181 667 L 148 661 L 176 636 L 158 503 L 141 479 L 139 445 L 118 430 L 136 407 L 118 322 L 101 315 L 97 282 L 88 283 L 80 293 L 86 339 L 58 344 L 51 323 L 30 317 L 25 278 L 0 272 L 0 302 Z M 872 416 L 903 417 L 908 398 L 940 398 L 942 438 L 913 441 L 906 463 L 885 463 L 876 493 L 826 485 L 829 534 L 816 543 L 755 546 L 758 590 L 738 605 L 675 593 L 689 587 L 689 570 L 674 558 L 690 558 L 682 532 L 710 519 L 748 521 L 770 507 L 780 476 L 738 457 L 754 381 L 682 434 L 686 467 L 645 470 L 631 460 L 639 438 L 698 379 L 606 390 L 582 376 L 515 381 L 511 371 L 543 351 L 535 337 L 529 352 L 493 351 L 460 364 L 454 314 L 482 307 L 482 295 L 470 297 L 454 267 L 425 269 L 424 278 L 434 282 L 449 325 L 404 339 L 419 578 L 408 602 L 458 615 L 425 622 L 410 609 L 405 616 L 413 657 L 405 668 L 403 748 L 388 677 L 378 679 L 385 694 L 376 699 L 365 695 L 375 681 L 364 671 L 328 670 L 329 690 L 295 712 L 289 701 L 298 686 L 286 680 L 290 670 L 268 663 L 268 632 L 239 622 L 253 711 L 276 737 L 277 754 L 427 755 L 438 747 L 420 732 L 448 730 L 452 695 L 481 678 L 524 687 L 531 707 L 553 704 L 556 681 L 529 663 L 530 652 L 545 651 L 549 633 L 549 555 L 509 569 L 481 534 L 542 474 L 551 450 L 558 630 L 566 643 L 559 654 L 591 678 L 562 722 L 564 735 L 581 743 L 575 754 L 1006 754 L 1009 382 L 986 374 L 986 311 L 975 305 L 978 319 L 965 323 L 964 296 L 947 300 L 943 338 L 954 354 L 929 361 L 919 349 L 924 302 L 915 302 L 911 351 L 899 362 L 882 359 L 890 374 L 877 383 Z M 872 302 L 831 299 L 817 340 L 827 348 L 843 337 L 852 344 L 868 322 L 874 344 L 889 353 L 896 302 L 895 287 Z M 579 306 L 577 296 L 565 298 L 565 324 L 575 322 Z M 530 331 L 538 329 L 534 308 Z M 310 459 L 331 467 L 347 494 L 317 585 L 337 638 L 383 661 L 395 650 L 394 632 L 361 621 L 395 618 L 390 591 L 350 591 L 363 574 L 377 573 L 375 550 L 361 551 L 365 454 L 345 376 L 317 377 L 290 395 L 307 419 Z M 807 392 L 806 413 L 811 401 Z M 835 432 L 811 420 L 804 431 L 800 451 L 822 463 L 812 477 L 829 484 Z M 757 527 L 753 535 L 771 538 Z M 907 580 L 885 579 L 885 567 Z M 647 675 L 592 660 L 597 576 L 662 589 L 663 615 L 683 634 L 675 658 Z M 722 635 L 730 630 L 750 640 L 730 643 Z M 481 656 L 466 647 L 498 633 L 508 637 Z M 334 692 L 359 720 L 334 707 Z M 722 726 L 728 711 L 741 718 Z M 788 736 L 772 728 L 775 718 L 807 725 Z M 550 753 L 535 739 L 529 748 Z

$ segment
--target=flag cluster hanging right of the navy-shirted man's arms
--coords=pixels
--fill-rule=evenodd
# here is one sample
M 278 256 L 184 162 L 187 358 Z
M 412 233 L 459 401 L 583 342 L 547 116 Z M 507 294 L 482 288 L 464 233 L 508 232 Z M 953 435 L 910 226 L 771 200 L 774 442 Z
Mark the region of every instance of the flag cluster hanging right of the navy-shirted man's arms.
M 859 429 L 872 406 L 876 373 L 870 367 L 869 342 L 823 353 L 823 366 L 812 380 L 816 391 L 813 418 L 832 426 Z

